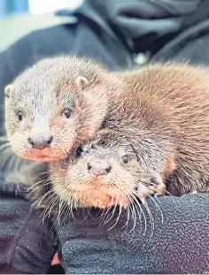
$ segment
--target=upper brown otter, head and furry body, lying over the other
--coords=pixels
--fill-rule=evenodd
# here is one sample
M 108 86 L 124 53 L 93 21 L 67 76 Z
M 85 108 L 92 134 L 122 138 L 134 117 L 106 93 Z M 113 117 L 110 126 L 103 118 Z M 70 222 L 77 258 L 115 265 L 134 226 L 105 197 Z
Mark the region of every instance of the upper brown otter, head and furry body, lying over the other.
M 52 162 L 114 129 L 145 178 L 155 175 L 174 195 L 207 192 L 208 75 L 186 64 L 110 73 L 87 59 L 47 59 L 5 88 L 8 138 L 19 157 Z

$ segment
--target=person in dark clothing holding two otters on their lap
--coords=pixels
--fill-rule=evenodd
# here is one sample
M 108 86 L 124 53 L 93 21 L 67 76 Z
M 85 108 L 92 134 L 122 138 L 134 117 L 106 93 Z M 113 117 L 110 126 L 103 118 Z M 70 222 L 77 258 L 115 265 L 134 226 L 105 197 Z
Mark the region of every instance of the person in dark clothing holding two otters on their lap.
M 59 15 L 66 13 L 70 11 Z M 1 126 L 4 86 L 43 57 L 92 57 L 112 70 L 139 65 L 141 52 L 150 62 L 187 58 L 209 64 L 209 0 L 89 0 L 74 16 L 76 23 L 35 31 L 0 55 Z M 4 127 L 0 129 L 4 134 Z M 47 272 L 55 249 L 47 231 L 50 221 L 39 225 L 40 212 L 30 213 L 28 202 L 4 194 L 0 194 L 0 264 L 23 272 Z M 78 218 L 68 221 L 60 234 L 66 272 L 208 273 L 209 195 L 188 195 L 175 201 L 161 197 L 159 202 L 163 224 L 159 210 L 148 200 L 155 223 L 151 238 L 149 226 L 145 236 L 138 230 L 140 222 L 135 231 L 125 233 L 124 213 L 111 231 L 108 225 L 98 227 L 92 218 L 79 222 L 80 212 L 75 213 Z M 12 213 L 9 218 L 8 213 Z M 96 215 L 95 211 L 90 214 Z

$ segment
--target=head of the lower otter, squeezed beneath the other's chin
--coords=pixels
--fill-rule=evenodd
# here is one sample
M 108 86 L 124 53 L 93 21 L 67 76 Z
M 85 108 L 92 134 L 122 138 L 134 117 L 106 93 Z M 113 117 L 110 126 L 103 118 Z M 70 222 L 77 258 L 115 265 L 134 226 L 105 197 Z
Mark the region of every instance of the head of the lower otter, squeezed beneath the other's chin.
M 143 201 L 151 182 L 132 146 L 112 132 L 88 141 L 74 160 L 51 163 L 50 178 L 63 201 L 100 209 Z

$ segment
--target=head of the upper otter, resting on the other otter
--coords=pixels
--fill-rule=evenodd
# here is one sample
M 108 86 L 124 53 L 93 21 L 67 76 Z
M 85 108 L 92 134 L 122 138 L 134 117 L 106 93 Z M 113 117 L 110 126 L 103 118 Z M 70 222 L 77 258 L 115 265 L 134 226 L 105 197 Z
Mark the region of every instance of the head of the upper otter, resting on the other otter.
M 104 70 L 84 58 L 40 61 L 5 88 L 8 140 L 22 158 L 50 162 L 94 136 L 115 89 Z

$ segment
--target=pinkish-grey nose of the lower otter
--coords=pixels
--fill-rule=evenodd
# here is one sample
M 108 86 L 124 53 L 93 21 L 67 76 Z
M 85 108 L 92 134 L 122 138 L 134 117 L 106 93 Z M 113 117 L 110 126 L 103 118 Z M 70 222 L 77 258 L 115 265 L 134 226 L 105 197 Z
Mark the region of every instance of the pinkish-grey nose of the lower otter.
M 106 161 L 94 161 L 87 164 L 89 173 L 96 176 L 107 175 L 111 172 L 111 165 Z

